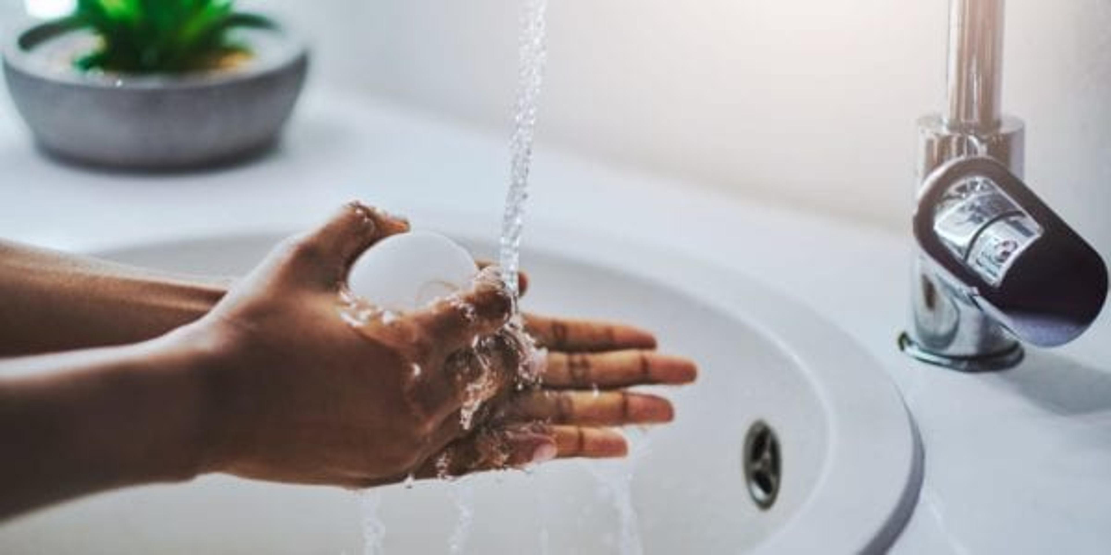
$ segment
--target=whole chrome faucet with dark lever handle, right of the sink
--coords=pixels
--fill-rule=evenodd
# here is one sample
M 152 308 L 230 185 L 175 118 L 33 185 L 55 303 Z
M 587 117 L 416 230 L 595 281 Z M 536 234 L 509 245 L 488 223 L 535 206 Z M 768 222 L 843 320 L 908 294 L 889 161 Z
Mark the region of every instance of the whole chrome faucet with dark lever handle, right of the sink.
M 1004 0 L 952 0 L 949 110 L 919 120 L 919 245 L 904 352 L 962 371 L 1072 341 L 1108 292 L 1100 255 L 1022 182 L 1023 123 L 1000 113 Z

